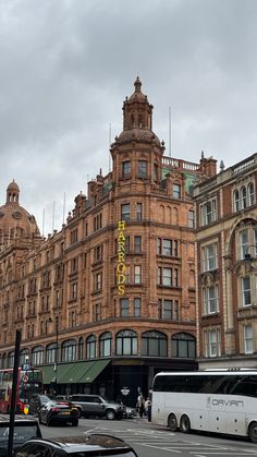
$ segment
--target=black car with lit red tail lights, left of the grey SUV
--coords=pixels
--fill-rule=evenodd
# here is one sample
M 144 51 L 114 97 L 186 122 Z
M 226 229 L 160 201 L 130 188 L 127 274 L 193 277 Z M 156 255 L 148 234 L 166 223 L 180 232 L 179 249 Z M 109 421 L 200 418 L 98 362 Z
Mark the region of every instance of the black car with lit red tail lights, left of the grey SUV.
M 38 411 L 39 423 L 50 425 L 53 423 L 71 423 L 73 426 L 78 424 L 78 411 L 70 401 L 50 400 Z

